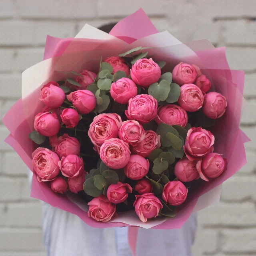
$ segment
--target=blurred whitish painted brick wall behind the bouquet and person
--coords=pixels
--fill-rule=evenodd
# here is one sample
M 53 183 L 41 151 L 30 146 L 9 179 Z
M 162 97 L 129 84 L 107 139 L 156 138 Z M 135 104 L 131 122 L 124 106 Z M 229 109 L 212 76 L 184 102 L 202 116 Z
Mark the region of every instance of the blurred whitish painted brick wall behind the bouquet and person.
M 193 252 L 256 255 L 255 0 L 0 0 L 0 116 L 21 97 L 21 73 L 42 60 L 46 34 L 74 37 L 85 23 L 118 22 L 140 7 L 182 42 L 226 46 L 230 67 L 246 73 L 241 128 L 252 140 L 248 164 L 223 184 L 219 204 L 198 213 Z M 0 122 L 0 256 L 45 256 L 41 203 L 30 198 L 27 168 L 6 136 Z

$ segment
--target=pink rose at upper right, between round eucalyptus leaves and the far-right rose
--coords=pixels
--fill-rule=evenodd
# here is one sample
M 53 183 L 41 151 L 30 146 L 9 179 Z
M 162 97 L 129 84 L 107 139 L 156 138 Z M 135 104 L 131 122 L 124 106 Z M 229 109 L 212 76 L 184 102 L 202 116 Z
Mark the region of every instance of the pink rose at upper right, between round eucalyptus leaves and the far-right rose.
M 180 87 L 178 104 L 188 112 L 196 112 L 202 108 L 204 94 L 195 84 L 184 84 Z

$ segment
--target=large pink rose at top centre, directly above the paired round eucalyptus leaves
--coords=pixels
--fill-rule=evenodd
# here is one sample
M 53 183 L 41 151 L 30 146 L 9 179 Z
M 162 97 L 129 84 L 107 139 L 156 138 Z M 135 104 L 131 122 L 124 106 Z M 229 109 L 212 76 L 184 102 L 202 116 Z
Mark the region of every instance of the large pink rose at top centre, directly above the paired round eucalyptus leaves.
M 143 88 L 148 88 L 150 84 L 154 84 L 160 79 L 161 68 L 150 59 L 137 60 L 131 69 L 131 77 L 135 84 Z

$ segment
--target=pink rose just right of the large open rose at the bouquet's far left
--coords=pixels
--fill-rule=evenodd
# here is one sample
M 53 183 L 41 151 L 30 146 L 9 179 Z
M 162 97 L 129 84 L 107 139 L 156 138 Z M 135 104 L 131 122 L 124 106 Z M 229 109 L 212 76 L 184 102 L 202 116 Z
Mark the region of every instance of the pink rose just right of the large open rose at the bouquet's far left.
M 68 178 L 76 178 L 84 172 L 84 161 L 76 155 L 63 156 L 58 165 L 62 175 Z

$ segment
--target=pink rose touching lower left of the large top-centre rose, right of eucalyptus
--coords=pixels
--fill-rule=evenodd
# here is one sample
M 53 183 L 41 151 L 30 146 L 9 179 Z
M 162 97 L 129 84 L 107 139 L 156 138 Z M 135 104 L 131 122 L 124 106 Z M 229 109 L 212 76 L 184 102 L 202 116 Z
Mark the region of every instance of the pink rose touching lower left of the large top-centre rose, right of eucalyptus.
M 120 104 L 128 104 L 130 98 L 136 96 L 137 93 L 136 84 L 129 78 L 121 78 L 113 82 L 110 88 L 111 97 Z

